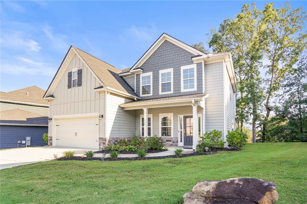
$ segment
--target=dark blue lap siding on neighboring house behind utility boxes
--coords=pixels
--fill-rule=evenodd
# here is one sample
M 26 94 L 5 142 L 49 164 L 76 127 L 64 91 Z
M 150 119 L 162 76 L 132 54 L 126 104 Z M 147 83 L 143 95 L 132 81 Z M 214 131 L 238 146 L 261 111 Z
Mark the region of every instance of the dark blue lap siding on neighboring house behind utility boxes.
M 25 141 L 25 137 L 31 137 L 31 146 L 47 145 L 43 140 L 44 133 L 48 133 L 46 126 L 1 125 L 0 149 L 17 148 L 17 142 Z

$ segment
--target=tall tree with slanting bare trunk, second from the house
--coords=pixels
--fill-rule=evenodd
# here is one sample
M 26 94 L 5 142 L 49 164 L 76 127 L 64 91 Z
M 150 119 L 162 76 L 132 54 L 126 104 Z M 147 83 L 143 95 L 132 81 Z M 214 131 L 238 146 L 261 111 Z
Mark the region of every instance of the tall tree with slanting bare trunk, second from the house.
M 281 8 L 275 8 L 273 3 L 265 5 L 262 11 L 262 21 L 266 25 L 266 43 L 264 47 L 265 57 L 269 63 L 266 76 L 266 115 L 262 122 L 262 142 L 266 138 L 266 122 L 270 116 L 273 106 L 270 100 L 280 89 L 281 82 L 285 74 L 290 71 L 293 64 L 297 61 L 299 52 L 304 44 L 306 34 L 299 35 L 302 32 L 305 12 L 302 7 L 292 9 L 287 2 Z

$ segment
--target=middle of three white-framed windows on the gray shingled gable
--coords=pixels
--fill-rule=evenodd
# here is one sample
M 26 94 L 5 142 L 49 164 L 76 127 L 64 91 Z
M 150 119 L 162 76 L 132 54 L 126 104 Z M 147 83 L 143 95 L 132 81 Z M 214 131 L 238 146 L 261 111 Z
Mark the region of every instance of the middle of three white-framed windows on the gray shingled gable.
M 173 93 L 173 68 L 159 71 L 159 94 Z

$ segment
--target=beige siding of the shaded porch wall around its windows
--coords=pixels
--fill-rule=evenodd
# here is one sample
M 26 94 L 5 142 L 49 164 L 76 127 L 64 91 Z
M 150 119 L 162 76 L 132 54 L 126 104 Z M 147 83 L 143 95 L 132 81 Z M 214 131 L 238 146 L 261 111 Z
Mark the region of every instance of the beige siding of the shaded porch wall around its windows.
M 173 136 L 178 138 L 179 130 L 178 130 L 178 115 L 193 115 L 193 107 L 191 106 L 178 106 L 178 107 L 167 107 L 167 108 L 150 108 L 148 109 L 148 114 L 152 114 L 152 122 L 151 128 L 153 129 L 153 135 L 160 135 L 160 113 L 173 113 Z M 138 109 L 136 111 L 136 132 L 140 133 L 140 115 L 143 115 L 143 109 Z M 197 114 L 203 114 L 203 109 L 201 107 L 197 107 Z M 203 128 L 203 125 L 200 126 Z M 203 131 L 202 131 L 203 132 Z

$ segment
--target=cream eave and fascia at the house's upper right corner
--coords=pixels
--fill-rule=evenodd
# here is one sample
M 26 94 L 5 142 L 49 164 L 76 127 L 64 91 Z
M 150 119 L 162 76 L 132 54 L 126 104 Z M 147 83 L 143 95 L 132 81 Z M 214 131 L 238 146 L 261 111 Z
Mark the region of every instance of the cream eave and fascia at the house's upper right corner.
M 192 60 L 194 63 L 204 62 L 205 64 L 224 61 L 226 63 L 226 68 L 227 68 L 227 72 L 228 72 L 228 76 L 231 82 L 232 89 L 234 90 L 234 93 L 238 91 L 237 83 L 235 80 L 235 70 L 233 68 L 233 63 L 232 63 L 230 52 L 217 53 L 217 54 L 205 54 L 202 56 L 193 57 Z

